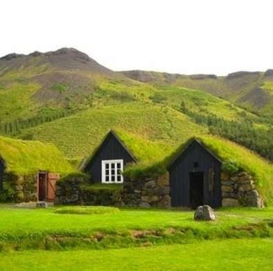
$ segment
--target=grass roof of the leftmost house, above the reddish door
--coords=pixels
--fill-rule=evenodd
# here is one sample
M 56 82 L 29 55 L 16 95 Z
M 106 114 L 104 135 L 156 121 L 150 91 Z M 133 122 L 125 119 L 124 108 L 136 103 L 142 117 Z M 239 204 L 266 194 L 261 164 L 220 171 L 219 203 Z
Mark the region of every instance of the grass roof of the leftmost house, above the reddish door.
M 24 141 L 0 136 L 0 156 L 6 171 L 30 174 L 38 170 L 65 174 L 72 171 L 63 154 L 53 145 L 39 141 Z

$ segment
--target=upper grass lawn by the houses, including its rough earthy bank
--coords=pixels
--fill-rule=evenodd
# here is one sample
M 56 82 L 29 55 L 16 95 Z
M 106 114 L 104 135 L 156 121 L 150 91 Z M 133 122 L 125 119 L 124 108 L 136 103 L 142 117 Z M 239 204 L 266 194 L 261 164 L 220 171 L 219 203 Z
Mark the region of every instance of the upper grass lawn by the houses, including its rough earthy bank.
M 217 211 L 215 222 L 195 222 L 193 211 L 182 210 L 123 208 L 86 215 L 56 210 L 1 206 L 0 251 L 104 249 L 273 236 L 273 208 Z

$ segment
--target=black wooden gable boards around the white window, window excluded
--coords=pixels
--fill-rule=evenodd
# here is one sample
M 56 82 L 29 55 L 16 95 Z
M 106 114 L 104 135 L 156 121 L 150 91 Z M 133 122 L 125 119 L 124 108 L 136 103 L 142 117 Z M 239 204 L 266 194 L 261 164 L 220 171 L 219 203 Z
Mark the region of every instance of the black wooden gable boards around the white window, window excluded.
M 84 172 L 91 175 L 91 179 L 96 182 L 100 182 L 101 176 L 101 161 L 103 160 L 116 160 L 123 159 L 123 166 L 127 163 L 136 163 L 136 158 L 125 147 L 123 142 L 118 138 L 114 131 L 109 131 L 105 140 L 101 143 L 98 149 L 91 156 L 91 159 L 87 161 L 84 167 Z

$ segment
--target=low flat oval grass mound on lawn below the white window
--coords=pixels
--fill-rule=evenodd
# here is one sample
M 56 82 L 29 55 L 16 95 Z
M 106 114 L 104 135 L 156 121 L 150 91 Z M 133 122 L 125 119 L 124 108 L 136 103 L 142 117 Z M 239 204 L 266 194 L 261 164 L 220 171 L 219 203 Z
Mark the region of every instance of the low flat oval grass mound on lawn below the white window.
M 107 206 L 65 206 L 55 211 L 55 213 L 75 215 L 101 215 L 116 212 L 119 212 L 118 208 Z

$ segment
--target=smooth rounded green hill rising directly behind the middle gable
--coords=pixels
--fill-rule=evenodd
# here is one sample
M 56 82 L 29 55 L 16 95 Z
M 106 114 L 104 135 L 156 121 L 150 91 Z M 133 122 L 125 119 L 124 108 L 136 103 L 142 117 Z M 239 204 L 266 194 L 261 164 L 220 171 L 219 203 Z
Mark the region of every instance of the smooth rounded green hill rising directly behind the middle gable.
M 186 115 L 172 108 L 132 101 L 91 108 L 28 129 L 21 137 L 52 142 L 69 158 L 73 158 L 89 156 L 109 129 L 123 129 L 136 135 L 134 138 L 169 146 L 207 132 L 204 127 L 194 124 Z

